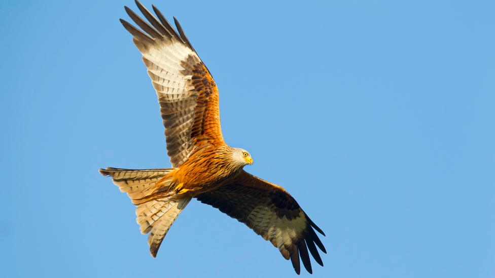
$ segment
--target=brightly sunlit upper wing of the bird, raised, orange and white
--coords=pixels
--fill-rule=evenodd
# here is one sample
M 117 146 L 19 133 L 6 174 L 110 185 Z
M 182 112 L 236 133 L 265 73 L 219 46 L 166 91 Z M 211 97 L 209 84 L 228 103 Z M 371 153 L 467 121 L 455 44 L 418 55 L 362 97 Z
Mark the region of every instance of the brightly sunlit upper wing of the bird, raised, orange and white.
M 167 153 L 172 167 L 178 167 L 196 147 L 224 144 L 218 88 L 179 22 L 174 18 L 176 32 L 155 6 L 158 19 L 139 2 L 136 5 L 151 25 L 128 7 L 127 14 L 142 30 L 120 21 L 143 54 L 160 103 Z

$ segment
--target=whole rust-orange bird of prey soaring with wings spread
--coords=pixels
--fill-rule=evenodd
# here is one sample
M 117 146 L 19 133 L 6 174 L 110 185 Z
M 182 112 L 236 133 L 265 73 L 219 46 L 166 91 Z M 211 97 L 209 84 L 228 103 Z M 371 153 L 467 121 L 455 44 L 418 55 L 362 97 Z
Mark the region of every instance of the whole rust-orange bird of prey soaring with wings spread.
M 312 273 L 309 253 L 323 266 L 316 246 L 326 253 L 316 231 L 325 235 L 282 187 L 243 170 L 251 154 L 228 146 L 220 129 L 219 94 L 211 73 L 192 47 L 179 22 L 177 30 L 153 6 L 156 17 L 136 1 L 146 22 L 128 7 L 134 23 L 120 19 L 143 55 L 158 95 L 167 153 L 173 168 L 100 169 L 111 176 L 136 206 L 137 223 L 156 257 L 173 221 L 192 198 L 244 223 Z M 151 25 L 150 25 L 151 24 Z M 309 250 L 309 253 L 308 253 Z

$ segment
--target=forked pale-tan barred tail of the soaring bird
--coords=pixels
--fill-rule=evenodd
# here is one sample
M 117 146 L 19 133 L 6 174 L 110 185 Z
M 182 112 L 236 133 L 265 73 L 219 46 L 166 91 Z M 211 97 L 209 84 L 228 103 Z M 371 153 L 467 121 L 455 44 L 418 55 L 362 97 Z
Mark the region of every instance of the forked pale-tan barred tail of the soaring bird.
M 130 170 L 110 167 L 99 170 L 103 176 L 111 176 L 120 191 L 126 192 L 136 205 L 136 222 L 141 233 L 150 232 L 148 244 L 153 257 L 156 257 L 175 218 L 191 201 L 190 197 L 173 198 L 173 192 L 167 194 L 169 190 L 173 190 L 173 186 L 167 184 L 167 180 L 163 178 L 173 170 L 175 168 Z M 159 188 L 155 186 L 157 182 L 160 182 Z M 156 194 L 157 190 L 160 194 Z

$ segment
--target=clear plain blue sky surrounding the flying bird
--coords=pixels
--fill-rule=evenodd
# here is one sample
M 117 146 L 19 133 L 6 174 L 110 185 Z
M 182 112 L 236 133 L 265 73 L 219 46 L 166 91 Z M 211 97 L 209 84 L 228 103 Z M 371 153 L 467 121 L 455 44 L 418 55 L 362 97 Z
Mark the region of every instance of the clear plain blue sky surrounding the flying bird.
M 246 170 L 326 232 L 314 277 L 495 276 L 492 1 L 153 3 L 213 72 Z M 295 276 L 197 201 L 150 256 L 97 171 L 170 166 L 124 5 L 0 5 L 1 276 Z

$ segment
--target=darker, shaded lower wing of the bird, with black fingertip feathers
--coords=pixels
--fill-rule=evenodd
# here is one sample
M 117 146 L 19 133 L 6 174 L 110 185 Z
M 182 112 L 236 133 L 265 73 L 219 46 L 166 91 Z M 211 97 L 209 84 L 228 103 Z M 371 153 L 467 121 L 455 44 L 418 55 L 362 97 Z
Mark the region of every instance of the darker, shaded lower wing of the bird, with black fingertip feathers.
M 284 258 L 291 259 L 298 274 L 299 257 L 306 270 L 312 272 L 308 249 L 314 260 L 323 266 L 315 245 L 327 252 L 314 229 L 325 234 L 284 188 L 242 171 L 228 184 L 196 198 L 248 225 L 270 241 Z

